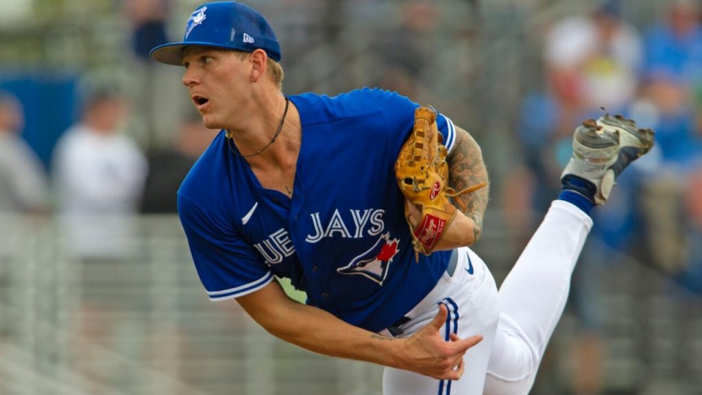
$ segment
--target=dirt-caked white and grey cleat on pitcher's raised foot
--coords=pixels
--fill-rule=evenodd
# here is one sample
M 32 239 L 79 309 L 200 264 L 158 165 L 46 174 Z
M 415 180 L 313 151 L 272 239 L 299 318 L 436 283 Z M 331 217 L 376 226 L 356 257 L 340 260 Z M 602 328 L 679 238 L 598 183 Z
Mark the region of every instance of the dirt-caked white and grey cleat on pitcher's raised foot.
M 573 156 L 561 174 L 563 188 L 601 206 L 621 172 L 654 145 L 654 131 L 637 129 L 631 119 L 605 114 L 588 119 L 573 136 Z M 573 177 L 585 182 L 574 181 Z

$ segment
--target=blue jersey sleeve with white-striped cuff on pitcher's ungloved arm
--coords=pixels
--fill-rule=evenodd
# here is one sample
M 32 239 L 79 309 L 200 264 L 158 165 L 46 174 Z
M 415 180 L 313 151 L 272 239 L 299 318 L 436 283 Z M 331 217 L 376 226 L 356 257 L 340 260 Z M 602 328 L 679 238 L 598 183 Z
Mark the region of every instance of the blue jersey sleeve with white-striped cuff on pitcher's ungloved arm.
M 197 274 L 211 300 L 241 297 L 273 280 L 270 268 L 227 224 L 223 213 L 204 209 L 178 194 L 178 215 Z

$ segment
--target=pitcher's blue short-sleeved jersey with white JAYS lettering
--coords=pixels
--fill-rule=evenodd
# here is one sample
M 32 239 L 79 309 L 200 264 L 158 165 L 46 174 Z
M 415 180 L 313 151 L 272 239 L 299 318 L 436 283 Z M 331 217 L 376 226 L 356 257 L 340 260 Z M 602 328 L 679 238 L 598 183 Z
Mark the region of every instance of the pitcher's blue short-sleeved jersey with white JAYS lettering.
M 307 304 L 366 330 L 388 328 L 449 261 L 449 252 L 415 261 L 395 180 L 418 105 L 380 89 L 288 97 L 302 124 L 292 197 L 263 188 L 223 131 L 178 190 L 199 278 L 213 300 L 290 278 Z M 453 123 L 439 115 L 437 127 L 450 152 Z

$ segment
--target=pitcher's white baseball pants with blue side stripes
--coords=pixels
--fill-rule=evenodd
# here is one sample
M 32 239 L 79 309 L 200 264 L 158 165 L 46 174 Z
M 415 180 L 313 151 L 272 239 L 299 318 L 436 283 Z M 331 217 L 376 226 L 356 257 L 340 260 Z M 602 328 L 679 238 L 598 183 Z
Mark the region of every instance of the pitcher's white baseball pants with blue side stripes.
M 453 276 L 437 286 L 406 316 L 404 336 L 427 325 L 446 304 L 442 333 L 483 341 L 465 354 L 461 380 L 435 380 L 385 368 L 385 395 L 528 394 L 546 345 L 568 299 L 571 274 L 592 219 L 569 202 L 555 200 L 498 292 L 475 252 L 458 250 Z M 384 331 L 385 332 L 385 331 Z M 387 333 L 385 333 L 387 334 Z

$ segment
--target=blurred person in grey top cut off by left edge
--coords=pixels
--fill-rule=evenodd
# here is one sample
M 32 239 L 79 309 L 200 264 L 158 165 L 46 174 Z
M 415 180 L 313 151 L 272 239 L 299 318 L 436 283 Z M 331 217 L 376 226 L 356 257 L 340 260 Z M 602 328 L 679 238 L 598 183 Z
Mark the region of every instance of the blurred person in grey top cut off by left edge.
M 24 112 L 10 93 L 0 92 L 0 213 L 45 212 L 48 185 L 44 168 L 22 140 Z

